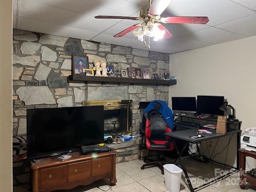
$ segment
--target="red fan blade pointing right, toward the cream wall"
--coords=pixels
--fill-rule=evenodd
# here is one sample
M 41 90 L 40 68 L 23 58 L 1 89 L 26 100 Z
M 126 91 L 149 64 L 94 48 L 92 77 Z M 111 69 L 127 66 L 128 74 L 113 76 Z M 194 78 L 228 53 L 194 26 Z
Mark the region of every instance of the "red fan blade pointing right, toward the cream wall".
M 208 17 L 163 17 L 163 23 L 191 23 L 191 24 L 206 24 L 209 21 Z

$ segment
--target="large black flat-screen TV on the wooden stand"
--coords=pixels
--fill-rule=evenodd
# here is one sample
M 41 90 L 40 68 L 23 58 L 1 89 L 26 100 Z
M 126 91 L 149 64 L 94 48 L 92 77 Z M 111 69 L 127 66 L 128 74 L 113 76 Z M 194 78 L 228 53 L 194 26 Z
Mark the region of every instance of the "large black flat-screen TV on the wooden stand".
M 104 142 L 104 107 L 27 110 L 27 157 L 41 158 Z

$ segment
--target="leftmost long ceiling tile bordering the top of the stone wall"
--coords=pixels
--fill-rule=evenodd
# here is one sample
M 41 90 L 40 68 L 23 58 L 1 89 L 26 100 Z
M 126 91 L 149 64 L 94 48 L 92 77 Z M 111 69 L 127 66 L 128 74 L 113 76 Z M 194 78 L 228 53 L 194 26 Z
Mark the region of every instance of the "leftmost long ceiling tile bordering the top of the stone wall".
M 69 26 L 63 26 L 58 24 L 52 24 L 48 22 L 20 18 L 18 20 L 17 29 L 28 30 L 33 32 L 47 33 L 65 37 L 72 37 L 84 40 L 90 40 L 93 36 L 99 34 L 98 32 L 84 30 Z

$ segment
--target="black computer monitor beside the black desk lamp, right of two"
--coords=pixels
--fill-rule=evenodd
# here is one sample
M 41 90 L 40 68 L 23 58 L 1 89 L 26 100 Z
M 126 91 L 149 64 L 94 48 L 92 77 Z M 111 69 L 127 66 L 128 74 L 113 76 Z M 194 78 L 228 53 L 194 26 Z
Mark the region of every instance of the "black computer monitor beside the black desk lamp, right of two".
M 224 115 L 224 111 L 220 110 L 220 106 L 224 103 L 224 96 L 197 96 L 197 113 Z

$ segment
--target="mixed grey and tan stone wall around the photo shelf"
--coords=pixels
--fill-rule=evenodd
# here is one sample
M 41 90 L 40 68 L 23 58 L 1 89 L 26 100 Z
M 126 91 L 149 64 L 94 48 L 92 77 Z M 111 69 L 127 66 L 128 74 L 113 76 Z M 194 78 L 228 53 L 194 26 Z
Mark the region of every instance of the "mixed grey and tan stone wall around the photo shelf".
M 106 60 L 117 69 L 150 68 L 160 75 L 169 69 L 169 54 L 90 42 L 75 38 L 14 30 L 13 136 L 26 135 L 26 109 L 81 106 L 83 100 L 133 100 L 133 132 L 139 128 L 140 101 L 168 103 L 168 86 L 85 84 L 68 81 L 71 55 Z

